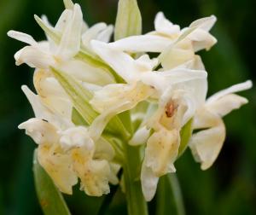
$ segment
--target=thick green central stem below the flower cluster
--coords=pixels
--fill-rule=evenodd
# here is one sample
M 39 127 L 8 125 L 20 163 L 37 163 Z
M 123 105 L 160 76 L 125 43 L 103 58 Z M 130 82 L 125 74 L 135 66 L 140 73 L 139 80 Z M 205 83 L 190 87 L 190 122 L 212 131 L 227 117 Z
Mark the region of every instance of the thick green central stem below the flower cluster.
M 126 164 L 124 165 L 125 195 L 129 215 L 148 215 L 147 202 L 144 199 L 139 177 L 141 165 L 138 147 L 125 147 Z

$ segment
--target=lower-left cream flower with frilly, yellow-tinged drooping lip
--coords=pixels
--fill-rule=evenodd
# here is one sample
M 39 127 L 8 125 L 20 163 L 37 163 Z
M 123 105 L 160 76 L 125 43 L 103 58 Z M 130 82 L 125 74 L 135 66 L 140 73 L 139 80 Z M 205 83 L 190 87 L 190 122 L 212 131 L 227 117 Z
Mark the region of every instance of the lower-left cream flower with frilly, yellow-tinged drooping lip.
M 46 89 L 50 92 L 51 88 Z M 41 97 L 26 86 L 22 90 L 31 102 L 36 118 L 20 124 L 19 128 L 25 129 L 26 134 L 38 143 L 38 161 L 55 185 L 61 192 L 72 194 L 72 187 L 79 177 L 81 189 L 87 195 L 108 194 L 108 182 L 118 181 L 109 163 L 113 160 L 113 148 L 106 142 L 102 144 L 102 140 L 95 143 L 87 128 L 73 125 L 71 115 L 55 111 L 56 107 L 49 109 L 53 103 L 45 106 Z

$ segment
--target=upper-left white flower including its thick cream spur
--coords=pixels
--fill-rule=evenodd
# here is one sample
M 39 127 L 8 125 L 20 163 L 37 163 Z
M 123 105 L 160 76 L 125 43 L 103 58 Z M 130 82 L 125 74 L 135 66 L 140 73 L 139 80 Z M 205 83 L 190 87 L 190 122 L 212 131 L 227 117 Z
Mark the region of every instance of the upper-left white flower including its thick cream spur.
M 37 19 L 40 20 L 38 17 Z M 26 33 L 9 31 L 9 37 L 29 44 L 15 54 L 16 65 L 26 63 L 30 67 L 44 70 L 58 67 L 82 82 L 97 85 L 115 83 L 113 76 L 101 67 L 92 67 L 85 61 L 75 58 L 80 49 L 90 49 L 91 39 L 108 42 L 113 26 L 99 23 L 82 33 L 83 15 L 79 4 L 74 4 L 73 9 L 65 9 L 55 27 L 50 26 L 45 19 L 41 21 L 52 32 L 60 35 L 60 42 L 56 44 L 48 37 L 49 41 L 38 43 Z

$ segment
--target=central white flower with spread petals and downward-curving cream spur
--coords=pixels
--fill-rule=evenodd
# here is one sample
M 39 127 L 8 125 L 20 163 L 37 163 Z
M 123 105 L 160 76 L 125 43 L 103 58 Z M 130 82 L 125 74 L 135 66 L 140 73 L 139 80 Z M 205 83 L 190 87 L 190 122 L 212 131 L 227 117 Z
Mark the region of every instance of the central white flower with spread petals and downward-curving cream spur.
M 95 92 L 90 103 L 98 112 L 102 113 L 91 125 L 92 131 L 97 131 L 92 134 L 95 137 L 101 135 L 103 128 L 113 115 L 134 108 L 138 102 L 142 102 L 154 94 L 161 95 L 172 84 L 207 77 L 205 71 L 194 71 L 187 68 L 157 72 L 154 71 L 157 60 L 151 60 L 148 55 L 134 60 L 130 55 L 99 41 L 92 41 L 91 46 L 96 54 L 127 83 L 109 84 Z

